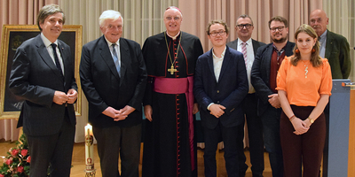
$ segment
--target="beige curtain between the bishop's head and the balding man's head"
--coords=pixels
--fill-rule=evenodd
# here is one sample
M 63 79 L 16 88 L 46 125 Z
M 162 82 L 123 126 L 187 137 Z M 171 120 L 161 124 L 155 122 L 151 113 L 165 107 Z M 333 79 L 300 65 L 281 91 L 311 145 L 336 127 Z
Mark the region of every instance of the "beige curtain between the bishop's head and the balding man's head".
M 179 0 L 178 5 L 184 15 L 182 30 L 200 37 L 203 49 L 207 51 L 211 43 L 205 30 L 212 19 L 225 20 L 231 31 L 228 41 L 233 41 L 237 38 L 236 19 L 241 14 L 248 14 L 255 26 L 252 38 L 269 43 L 268 21 L 280 15 L 288 19 L 289 41 L 294 42 L 296 28 L 308 24 L 309 13 L 322 8 L 322 0 Z

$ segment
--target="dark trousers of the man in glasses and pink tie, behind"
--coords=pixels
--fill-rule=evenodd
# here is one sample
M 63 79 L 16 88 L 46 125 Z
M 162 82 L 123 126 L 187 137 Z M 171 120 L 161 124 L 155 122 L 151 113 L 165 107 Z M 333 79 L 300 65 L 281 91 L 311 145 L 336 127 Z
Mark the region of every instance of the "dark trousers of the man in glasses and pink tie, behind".
M 253 177 L 263 176 L 264 172 L 264 137 L 263 137 L 263 123 L 257 116 L 257 97 L 256 94 L 248 94 L 242 103 L 243 112 L 245 114 L 248 126 L 248 140 L 250 163 Z M 248 170 L 246 157 L 244 155 L 244 123 L 238 127 L 238 161 L 240 176 L 245 176 Z

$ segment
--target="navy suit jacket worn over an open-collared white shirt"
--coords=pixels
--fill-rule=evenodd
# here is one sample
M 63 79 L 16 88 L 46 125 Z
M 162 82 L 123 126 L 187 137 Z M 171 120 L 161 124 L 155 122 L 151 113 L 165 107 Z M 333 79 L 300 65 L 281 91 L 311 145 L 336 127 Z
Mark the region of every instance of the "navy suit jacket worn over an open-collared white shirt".
M 241 101 L 248 94 L 248 78 L 241 52 L 226 46 L 218 82 L 213 68 L 212 50 L 201 55 L 196 63 L 193 94 L 201 105 L 201 123 L 207 128 L 235 127 L 243 122 Z M 219 119 L 209 113 L 211 103 L 225 106 L 225 114 Z

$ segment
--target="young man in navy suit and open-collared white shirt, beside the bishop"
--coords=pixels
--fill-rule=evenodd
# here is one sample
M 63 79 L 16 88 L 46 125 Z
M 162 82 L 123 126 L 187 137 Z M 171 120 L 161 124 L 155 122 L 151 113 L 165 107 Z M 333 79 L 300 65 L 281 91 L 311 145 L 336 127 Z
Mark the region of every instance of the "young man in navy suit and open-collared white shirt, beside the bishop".
M 222 138 L 226 171 L 236 177 L 238 127 L 244 122 L 241 103 L 248 94 L 247 71 L 241 52 L 225 45 L 228 27 L 224 21 L 211 21 L 206 32 L 213 48 L 198 58 L 193 84 L 193 94 L 201 105 L 205 176 L 217 176 L 216 150 Z

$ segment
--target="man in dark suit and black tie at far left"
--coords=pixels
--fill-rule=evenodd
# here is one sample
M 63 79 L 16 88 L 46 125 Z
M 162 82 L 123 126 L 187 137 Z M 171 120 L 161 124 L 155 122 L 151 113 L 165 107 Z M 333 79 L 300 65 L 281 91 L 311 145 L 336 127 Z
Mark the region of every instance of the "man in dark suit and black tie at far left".
M 30 176 L 70 176 L 77 98 L 74 58 L 58 40 L 65 17 L 56 4 L 37 16 L 41 35 L 23 42 L 12 63 L 9 88 L 25 99 L 18 127 L 28 138 Z M 57 47 L 58 46 L 58 47 Z

